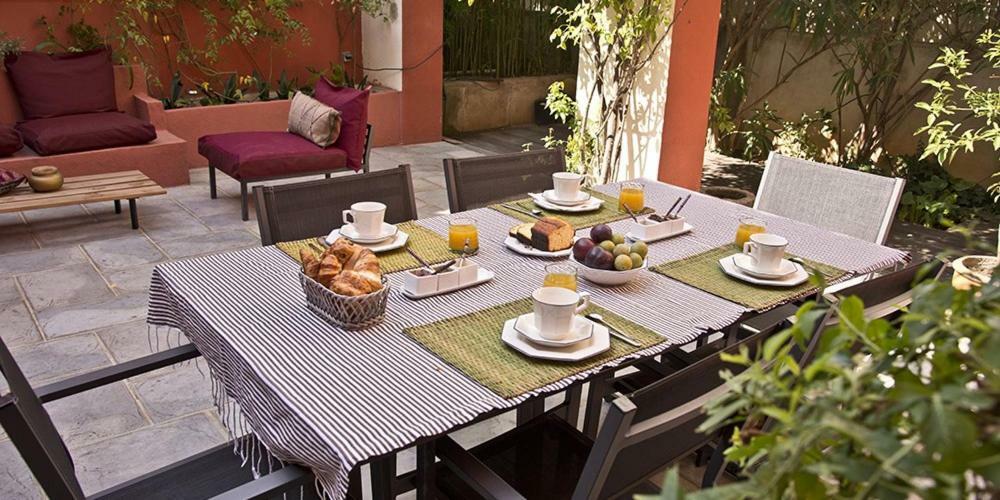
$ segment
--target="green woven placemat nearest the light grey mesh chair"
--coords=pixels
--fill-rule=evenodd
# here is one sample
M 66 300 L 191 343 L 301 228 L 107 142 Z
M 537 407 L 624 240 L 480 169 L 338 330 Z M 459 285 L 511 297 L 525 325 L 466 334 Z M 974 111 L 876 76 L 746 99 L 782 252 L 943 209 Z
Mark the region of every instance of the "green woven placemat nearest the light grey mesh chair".
M 791 288 L 757 286 L 732 278 L 722 271 L 719 259 L 738 252 L 734 244 L 723 245 L 707 252 L 692 255 L 673 262 L 652 267 L 654 272 L 687 283 L 695 288 L 717 295 L 726 300 L 742 304 L 750 309 L 762 311 L 776 305 L 805 297 L 816 292 L 810 282 Z M 789 255 L 789 257 L 792 257 Z M 827 281 L 845 274 L 842 269 L 802 259 L 808 267 L 821 273 Z

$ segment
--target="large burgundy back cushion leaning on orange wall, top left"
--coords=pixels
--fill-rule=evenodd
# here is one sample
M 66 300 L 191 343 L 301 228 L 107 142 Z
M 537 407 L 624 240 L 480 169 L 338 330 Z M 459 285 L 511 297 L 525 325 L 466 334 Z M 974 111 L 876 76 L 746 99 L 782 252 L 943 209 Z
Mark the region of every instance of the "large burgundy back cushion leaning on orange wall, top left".
M 25 120 L 118 109 L 111 52 L 21 52 L 4 60 Z

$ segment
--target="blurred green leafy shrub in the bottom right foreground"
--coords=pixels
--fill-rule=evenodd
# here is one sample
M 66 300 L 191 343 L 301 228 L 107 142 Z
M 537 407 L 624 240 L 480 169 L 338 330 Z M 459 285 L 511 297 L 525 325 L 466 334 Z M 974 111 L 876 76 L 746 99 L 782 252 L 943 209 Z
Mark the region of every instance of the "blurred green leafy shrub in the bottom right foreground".
M 897 320 L 867 320 L 849 297 L 814 360 L 789 356 L 809 340 L 776 334 L 704 429 L 745 423 L 726 457 L 735 484 L 660 498 L 988 498 L 1000 487 L 1000 274 L 979 290 L 929 281 Z M 807 304 L 800 323 L 815 319 Z M 766 422 L 766 425 L 762 424 Z

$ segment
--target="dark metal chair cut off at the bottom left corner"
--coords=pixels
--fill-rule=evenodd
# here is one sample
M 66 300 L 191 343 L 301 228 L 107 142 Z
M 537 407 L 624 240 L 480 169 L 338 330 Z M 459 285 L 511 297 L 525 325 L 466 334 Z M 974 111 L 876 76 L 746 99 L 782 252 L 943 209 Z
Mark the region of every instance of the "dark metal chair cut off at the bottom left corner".
M 76 477 L 73 459 L 43 403 L 198 355 L 198 350 L 188 344 L 34 389 L 0 340 L 0 373 L 11 391 L 0 394 L 0 426 L 49 498 L 83 499 L 85 496 Z M 253 438 L 247 436 L 243 439 Z M 306 486 L 305 493 L 309 496 L 312 495 L 313 481 L 311 472 L 294 465 L 254 480 L 252 471 L 249 467 L 242 467 L 242 460 L 233 453 L 233 445 L 227 443 L 86 498 L 166 500 L 216 495 L 271 498 L 280 496 L 282 492 L 298 493 L 301 486 Z

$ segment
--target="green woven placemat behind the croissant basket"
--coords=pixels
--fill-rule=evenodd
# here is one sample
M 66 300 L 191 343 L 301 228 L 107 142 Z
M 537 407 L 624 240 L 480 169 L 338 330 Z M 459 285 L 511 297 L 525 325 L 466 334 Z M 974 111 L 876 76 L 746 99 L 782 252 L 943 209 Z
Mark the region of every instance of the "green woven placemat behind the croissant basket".
M 410 235 L 409 239 L 406 241 L 406 246 L 409 247 L 410 250 L 416 252 L 421 258 L 426 260 L 427 263 L 437 264 L 439 262 L 446 262 L 455 258 L 455 254 L 448 249 L 448 241 L 434 231 L 431 231 L 430 229 L 420 226 L 412 221 L 403 222 L 398 224 L 398 226 L 400 230 Z M 291 258 L 295 259 L 296 262 L 301 263 L 299 259 L 299 249 L 306 247 L 318 253 L 320 251 L 319 249 L 323 247 L 323 244 L 319 242 L 321 239 L 322 238 L 306 238 L 298 241 L 285 241 L 278 243 L 275 246 L 282 252 L 288 254 Z M 420 267 L 420 263 L 407 253 L 405 248 L 399 248 L 378 254 L 378 262 L 383 273 L 394 273 L 396 271 L 405 271 L 407 269 Z

